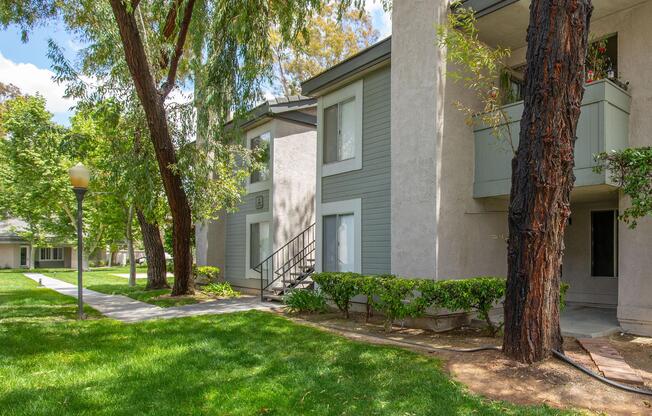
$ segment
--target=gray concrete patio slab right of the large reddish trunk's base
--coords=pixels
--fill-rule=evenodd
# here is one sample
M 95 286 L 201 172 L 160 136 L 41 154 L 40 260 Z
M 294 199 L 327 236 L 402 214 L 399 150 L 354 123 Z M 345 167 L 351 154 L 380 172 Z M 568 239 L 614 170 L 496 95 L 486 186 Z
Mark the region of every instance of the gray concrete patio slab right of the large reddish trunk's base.
M 622 331 L 615 308 L 568 305 L 560 324 L 562 335 L 574 338 L 608 337 Z

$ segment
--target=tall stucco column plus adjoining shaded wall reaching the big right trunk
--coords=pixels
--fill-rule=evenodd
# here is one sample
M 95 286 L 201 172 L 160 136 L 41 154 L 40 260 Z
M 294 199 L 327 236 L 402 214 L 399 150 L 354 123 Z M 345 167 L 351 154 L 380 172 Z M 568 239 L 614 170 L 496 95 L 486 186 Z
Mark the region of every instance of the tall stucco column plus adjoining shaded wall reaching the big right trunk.
M 435 24 L 446 1 L 399 2 L 392 22 L 392 272 L 434 279 L 506 273 L 506 200 L 473 199 L 473 131 L 446 77 Z

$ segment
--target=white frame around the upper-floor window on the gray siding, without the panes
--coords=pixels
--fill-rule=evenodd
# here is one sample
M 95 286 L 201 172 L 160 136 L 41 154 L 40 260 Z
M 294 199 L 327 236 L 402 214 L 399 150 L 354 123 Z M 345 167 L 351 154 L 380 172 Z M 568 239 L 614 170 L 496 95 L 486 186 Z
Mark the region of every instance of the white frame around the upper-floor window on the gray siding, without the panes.
M 317 102 L 317 168 L 321 177 L 362 169 L 362 91 L 363 80 L 360 79 L 320 97 Z M 324 109 L 349 100 L 354 100 L 355 109 L 355 155 L 346 160 L 324 163 Z

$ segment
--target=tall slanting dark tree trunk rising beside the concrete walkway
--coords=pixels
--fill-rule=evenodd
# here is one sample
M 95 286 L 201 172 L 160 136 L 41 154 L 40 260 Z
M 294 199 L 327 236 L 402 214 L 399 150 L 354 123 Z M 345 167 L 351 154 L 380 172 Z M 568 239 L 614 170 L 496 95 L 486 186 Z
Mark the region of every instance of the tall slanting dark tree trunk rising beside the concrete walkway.
M 186 6 L 190 12 L 192 12 L 192 4 L 194 2 L 189 1 Z M 171 84 L 168 83 L 169 80 L 166 81 L 160 91 L 156 87 L 154 78 L 152 77 L 151 67 L 147 61 L 145 48 L 138 32 L 133 10 L 128 11 L 127 4 L 123 0 L 111 0 L 111 8 L 120 31 L 127 66 L 134 81 L 136 93 L 145 111 L 147 126 L 149 127 L 150 137 L 156 153 L 156 160 L 161 172 L 161 178 L 163 179 L 163 188 L 165 189 L 165 195 L 170 205 L 170 213 L 172 214 L 172 255 L 174 256 L 174 287 L 172 289 L 172 295 L 190 294 L 193 292 L 191 279 L 192 253 L 190 250 L 192 234 L 190 204 L 188 203 L 186 192 L 183 189 L 181 177 L 170 168 L 170 166 L 176 164 L 177 158 L 168 129 L 164 106 L 165 97 L 169 93 L 168 88 Z

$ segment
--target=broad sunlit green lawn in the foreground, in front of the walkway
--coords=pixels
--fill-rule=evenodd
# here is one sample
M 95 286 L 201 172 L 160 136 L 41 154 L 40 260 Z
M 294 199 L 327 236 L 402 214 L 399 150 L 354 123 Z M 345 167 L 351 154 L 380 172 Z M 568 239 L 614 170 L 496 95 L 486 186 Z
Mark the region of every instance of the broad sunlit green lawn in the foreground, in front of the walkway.
M 573 414 L 483 400 L 437 359 L 273 314 L 77 322 L 74 302 L 0 273 L 0 414 Z

